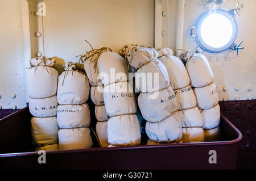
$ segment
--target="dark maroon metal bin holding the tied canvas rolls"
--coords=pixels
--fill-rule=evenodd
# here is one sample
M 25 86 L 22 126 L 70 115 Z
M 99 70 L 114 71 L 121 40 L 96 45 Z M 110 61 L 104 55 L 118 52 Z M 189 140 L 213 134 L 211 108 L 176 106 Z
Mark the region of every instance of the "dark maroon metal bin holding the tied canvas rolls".
M 0 169 L 236 169 L 241 132 L 221 115 L 221 141 L 47 151 L 38 163 L 28 107 L 0 120 Z M 209 151 L 217 163 L 210 164 Z

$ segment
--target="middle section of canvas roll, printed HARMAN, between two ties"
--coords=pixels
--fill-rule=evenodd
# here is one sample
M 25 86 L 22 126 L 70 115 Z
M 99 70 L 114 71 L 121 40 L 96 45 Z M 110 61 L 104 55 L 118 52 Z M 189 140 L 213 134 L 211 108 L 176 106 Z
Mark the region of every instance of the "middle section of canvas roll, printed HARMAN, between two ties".
M 57 107 L 57 122 L 60 128 L 89 127 L 90 110 L 88 104 L 67 104 Z

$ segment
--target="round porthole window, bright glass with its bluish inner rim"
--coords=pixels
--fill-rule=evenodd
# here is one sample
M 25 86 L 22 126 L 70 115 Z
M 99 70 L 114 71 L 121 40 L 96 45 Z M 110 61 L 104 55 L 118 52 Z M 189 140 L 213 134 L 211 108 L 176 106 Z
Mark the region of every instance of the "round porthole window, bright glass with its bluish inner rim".
M 225 10 L 204 12 L 196 22 L 196 42 L 210 53 L 220 53 L 231 47 L 237 37 L 237 23 Z

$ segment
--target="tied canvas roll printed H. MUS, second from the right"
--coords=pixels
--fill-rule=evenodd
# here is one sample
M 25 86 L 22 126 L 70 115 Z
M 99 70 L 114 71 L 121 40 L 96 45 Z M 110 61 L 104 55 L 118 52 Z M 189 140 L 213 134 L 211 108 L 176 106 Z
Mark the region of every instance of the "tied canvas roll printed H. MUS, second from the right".
M 180 58 L 172 55 L 170 48 L 159 50 L 159 60 L 163 62 L 174 88 L 183 131 L 182 142 L 204 141 L 202 118 L 196 107 L 196 97 L 189 85 L 187 70 Z

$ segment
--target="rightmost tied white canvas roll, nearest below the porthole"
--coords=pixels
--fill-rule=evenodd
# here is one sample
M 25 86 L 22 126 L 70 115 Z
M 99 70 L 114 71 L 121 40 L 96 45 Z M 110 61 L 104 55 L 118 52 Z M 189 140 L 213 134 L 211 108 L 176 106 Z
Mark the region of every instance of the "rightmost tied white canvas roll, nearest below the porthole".
M 220 106 L 218 105 L 218 90 L 213 82 L 212 69 L 207 58 L 200 53 L 188 53 L 186 61 L 191 86 L 196 95 L 197 107 L 199 107 L 203 119 L 205 141 L 215 140 L 219 137 L 214 136 L 214 132 L 218 130 L 216 134 L 220 134 L 219 129 L 216 129 L 220 124 Z

